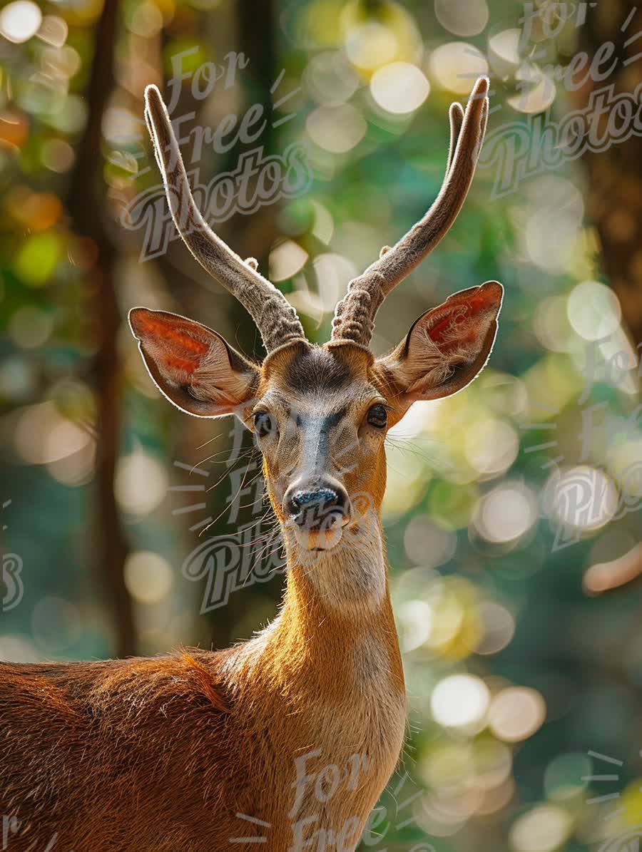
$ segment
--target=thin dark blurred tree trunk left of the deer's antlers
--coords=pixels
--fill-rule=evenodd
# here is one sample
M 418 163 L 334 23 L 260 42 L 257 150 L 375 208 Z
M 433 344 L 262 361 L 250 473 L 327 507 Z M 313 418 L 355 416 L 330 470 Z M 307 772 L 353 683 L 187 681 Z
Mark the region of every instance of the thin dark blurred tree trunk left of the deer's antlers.
M 93 239 L 98 250 L 93 268 L 95 333 L 99 338 L 94 363 L 99 433 L 96 448 L 96 522 L 101 546 L 98 560 L 117 630 L 116 653 L 123 657 L 136 652 L 136 627 L 130 595 L 124 584 L 124 561 L 128 544 L 113 492 L 121 423 L 121 371 L 116 346 L 120 315 L 114 282 L 116 250 L 102 220 L 104 193 L 100 179 L 101 122 L 114 83 L 113 54 L 118 8 L 118 0 L 105 0 L 95 27 L 95 53 L 87 92 L 89 113 L 84 138 L 77 148 L 67 209 L 76 233 Z

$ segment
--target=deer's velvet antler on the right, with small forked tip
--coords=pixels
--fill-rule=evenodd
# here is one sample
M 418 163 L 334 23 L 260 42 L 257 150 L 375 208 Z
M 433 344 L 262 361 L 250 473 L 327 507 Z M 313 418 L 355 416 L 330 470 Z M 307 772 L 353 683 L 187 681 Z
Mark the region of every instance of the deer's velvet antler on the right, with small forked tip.
M 379 260 L 350 281 L 333 319 L 333 341 L 370 342 L 374 318 L 385 296 L 424 260 L 448 231 L 460 212 L 475 174 L 489 114 L 489 80 L 480 77 L 462 110 L 450 107 L 450 150 L 442 188 L 431 209 L 392 248 L 385 246 Z

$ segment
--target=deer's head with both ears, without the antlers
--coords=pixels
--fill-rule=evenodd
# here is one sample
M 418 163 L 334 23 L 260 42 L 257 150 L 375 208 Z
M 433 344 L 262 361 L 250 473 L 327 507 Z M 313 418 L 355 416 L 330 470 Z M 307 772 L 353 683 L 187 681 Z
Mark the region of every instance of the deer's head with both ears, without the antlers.
M 379 515 L 385 435 L 414 400 L 454 394 L 495 339 L 501 287 L 451 296 L 383 358 L 356 343 L 286 343 L 253 365 L 223 337 L 176 314 L 135 308 L 132 331 L 154 382 L 183 411 L 235 413 L 263 453 L 269 497 L 304 550 L 329 550 L 344 527 Z

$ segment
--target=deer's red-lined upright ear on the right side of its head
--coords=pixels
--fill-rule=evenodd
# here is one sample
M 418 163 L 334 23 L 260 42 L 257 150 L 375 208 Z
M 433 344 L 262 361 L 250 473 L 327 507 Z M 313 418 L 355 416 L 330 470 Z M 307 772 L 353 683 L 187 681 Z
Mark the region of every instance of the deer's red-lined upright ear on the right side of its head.
M 378 360 L 403 406 L 456 394 L 483 370 L 497 333 L 504 288 L 496 281 L 455 293 L 414 322 Z

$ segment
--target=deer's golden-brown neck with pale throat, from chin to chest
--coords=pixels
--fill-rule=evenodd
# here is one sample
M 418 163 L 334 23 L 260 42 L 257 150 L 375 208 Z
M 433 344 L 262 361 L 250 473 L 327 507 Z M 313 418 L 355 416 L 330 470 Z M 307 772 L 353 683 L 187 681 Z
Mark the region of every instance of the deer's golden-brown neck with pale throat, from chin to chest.
M 302 552 L 285 531 L 287 586 L 281 612 L 248 651 L 273 688 L 334 707 L 385 691 L 404 694 L 377 515 L 333 550 Z M 387 703 L 387 702 L 386 702 Z

